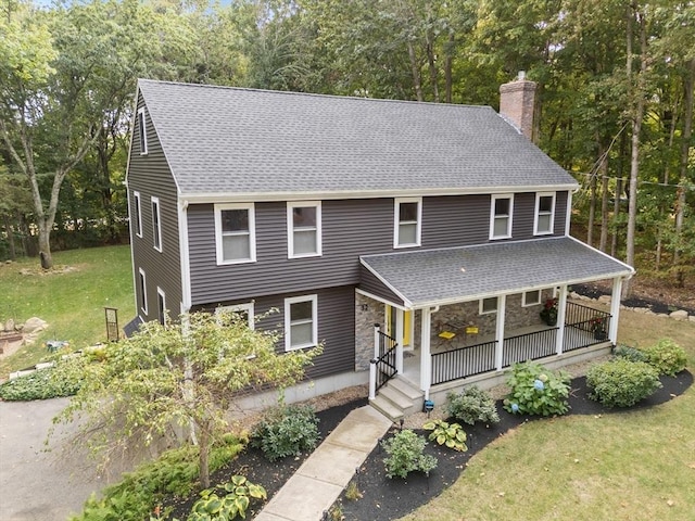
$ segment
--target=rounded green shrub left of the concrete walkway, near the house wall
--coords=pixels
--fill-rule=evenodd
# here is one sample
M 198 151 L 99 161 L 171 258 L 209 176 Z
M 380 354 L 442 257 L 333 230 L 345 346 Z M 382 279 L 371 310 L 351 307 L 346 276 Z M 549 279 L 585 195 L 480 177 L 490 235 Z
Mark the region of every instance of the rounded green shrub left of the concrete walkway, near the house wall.
M 290 405 L 270 410 L 251 434 L 251 445 L 270 461 L 316 447 L 318 418 L 311 406 Z

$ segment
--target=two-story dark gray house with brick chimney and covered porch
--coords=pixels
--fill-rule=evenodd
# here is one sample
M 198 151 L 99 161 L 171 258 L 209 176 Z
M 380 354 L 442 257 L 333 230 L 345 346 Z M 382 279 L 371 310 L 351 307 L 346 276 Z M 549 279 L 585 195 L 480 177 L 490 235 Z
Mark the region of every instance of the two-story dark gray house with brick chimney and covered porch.
M 606 352 L 633 270 L 569 236 L 578 183 L 523 135 L 533 89 L 503 86 L 501 117 L 140 80 L 127 171 L 137 320 L 242 310 L 283 332 L 279 352 L 323 343 L 314 393 L 370 381 L 392 417 L 515 361 Z M 605 279 L 610 313 L 568 301 L 571 284 Z

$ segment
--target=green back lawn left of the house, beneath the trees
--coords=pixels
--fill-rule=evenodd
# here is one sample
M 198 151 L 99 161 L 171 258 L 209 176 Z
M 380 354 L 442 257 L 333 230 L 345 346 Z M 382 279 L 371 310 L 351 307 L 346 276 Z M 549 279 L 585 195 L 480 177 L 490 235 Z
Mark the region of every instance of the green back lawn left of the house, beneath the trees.
M 66 340 L 74 350 L 104 342 L 104 307 L 118 309 L 121 327 L 135 316 L 129 245 L 56 252 L 53 260 L 48 272 L 38 258 L 0 265 L 0 320 L 49 323 L 35 344 L 0 359 L 0 379 L 46 357 L 46 340 Z

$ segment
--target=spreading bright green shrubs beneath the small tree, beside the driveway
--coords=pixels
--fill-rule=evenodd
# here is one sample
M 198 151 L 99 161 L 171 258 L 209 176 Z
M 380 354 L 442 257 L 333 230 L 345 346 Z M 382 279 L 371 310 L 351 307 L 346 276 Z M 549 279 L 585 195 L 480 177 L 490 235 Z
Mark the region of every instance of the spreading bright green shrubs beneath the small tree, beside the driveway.
M 227 435 L 213 446 L 210 470 L 215 471 L 241 452 L 235 436 Z M 123 480 L 103 491 L 103 497 L 94 494 L 85 503 L 84 510 L 71 521 L 142 521 L 166 496 L 188 496 L 198 483 L 198 447 L 185 446 L 167 450 L 154 461 L 124 474 Z M 166 519 L 170 508 L 157 510 Z

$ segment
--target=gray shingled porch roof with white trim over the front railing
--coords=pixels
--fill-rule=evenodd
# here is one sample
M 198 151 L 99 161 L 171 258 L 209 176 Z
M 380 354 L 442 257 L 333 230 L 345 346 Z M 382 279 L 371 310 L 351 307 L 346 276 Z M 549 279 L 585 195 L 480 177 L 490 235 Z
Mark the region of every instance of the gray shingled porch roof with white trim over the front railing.
M 363 280 L 422 308 L 561 284 L 630 277 L 634 269 L 571 237 L 361 257 Z M 401 303 L 397 303 L 401 304 Z

